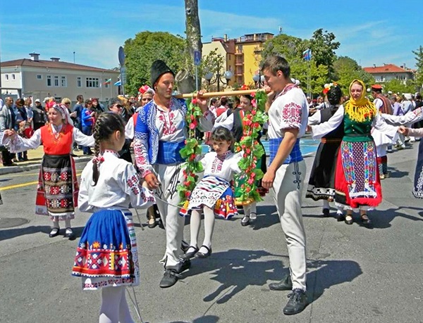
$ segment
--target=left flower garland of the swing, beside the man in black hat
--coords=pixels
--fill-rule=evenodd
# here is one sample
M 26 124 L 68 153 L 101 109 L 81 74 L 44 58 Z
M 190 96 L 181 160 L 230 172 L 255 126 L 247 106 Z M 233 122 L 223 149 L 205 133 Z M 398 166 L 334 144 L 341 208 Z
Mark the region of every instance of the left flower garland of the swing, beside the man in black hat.
M 202 148 L 195 139 L 195 128 L 198 125 L 198 118 L 203 113 L 200 106 L 197 105 L 197 99 L 187 99 L 187 113 L 185 114 L 185 124 L 188 127 L 188 139 L 185 140 L 185 147 L 180 149 L 180 156 L 186 158 L 185 167 L 183 169 L 183 182 L 178 185 L 178 194 L 180 197 L 180 205 L 188 206 L 188 198 L 195 188 L 198 180 L 197 172 L 202 172 L 202 163 L 196 160 L 197 156 L 202 153 Z

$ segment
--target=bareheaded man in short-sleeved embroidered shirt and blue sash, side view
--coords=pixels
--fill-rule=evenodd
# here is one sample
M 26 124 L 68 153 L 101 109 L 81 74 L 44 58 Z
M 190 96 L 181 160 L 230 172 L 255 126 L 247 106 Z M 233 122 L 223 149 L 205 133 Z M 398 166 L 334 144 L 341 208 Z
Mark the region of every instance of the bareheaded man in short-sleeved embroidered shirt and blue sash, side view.
M 307 128 L 308 103 L 302 90 L 290 80 L 290 65 L 285 58 L 266 58 L 262 75 L 273 91 L 268 96 L 270 165 L 262 184 L 273 191 L 290 261 L 288 277 L 270 284 L 269 288 L 292 289 L 283 313 L 293 315 L 302 312 L 307 305 L 305 228 L 301 213 L 306 167 L 300 137 Z

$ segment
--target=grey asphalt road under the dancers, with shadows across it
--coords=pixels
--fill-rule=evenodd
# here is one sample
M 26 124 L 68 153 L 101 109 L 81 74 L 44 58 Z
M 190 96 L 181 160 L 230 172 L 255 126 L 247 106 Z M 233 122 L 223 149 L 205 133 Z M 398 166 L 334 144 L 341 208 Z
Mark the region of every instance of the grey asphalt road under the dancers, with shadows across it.
M 267 288 L 288 272 L 271 196 L 253 226 L 241 227 L 241 216 L 217 220 L 212 256 L 193 260 L 170 289 L 159 288 L 164 231 L 137 227 L 142 274 L 135 295 L 143 321 L 423 322 L 423 201 L 411 194 L 416 155 L 417 143 L 388 155 L 391 177 L 382 182 L 384 202 L 370 213 L 373 229 L 320 217 L 320 203 L 303 200 L 310 304 L 293 317 L 281 312 L 288 292 Z M 98 322 L 99 291 L 82 291 L 71 276 L 78 239 L 49 239 L 49 220 L 34 215 L 36 181 L 36 171 L 0 176 L 0 224 L 27 220 L 0 228 L 0 322 Z M 88 217 L 77 212 L 78 236 Z M 140 218 L 145 225 L 143 212 Z

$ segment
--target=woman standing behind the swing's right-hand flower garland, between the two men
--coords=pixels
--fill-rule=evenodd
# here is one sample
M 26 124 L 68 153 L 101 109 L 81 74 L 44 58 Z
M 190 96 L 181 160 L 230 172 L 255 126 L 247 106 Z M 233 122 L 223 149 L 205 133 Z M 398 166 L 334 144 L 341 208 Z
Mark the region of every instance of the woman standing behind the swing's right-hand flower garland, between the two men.
M 250 95 L 240 96 L 240 107 L 235 108 L 234 110 L 228 109 L 222 113 L 219 118 L 214 122 L 214 128 L 216 127 L 226 127 L 231 130 L 235 142 L 240 142 L 243 139 L 244 134 L 248 126 L 245 124 L 244 116 L 250 114 L 251 111 L 255 108 L 255 99 Z M 262 126 L 262 125 L 261 125 Z M 259 145 L 262 146 L 263 151 L 264 147 L 260 141 L 260 137 L 257 138 Z M 257 160 L 257 168 L 261 169 L 263 173 L 266 173 L 266 154 L 263 153 L 261 158 Z M 235 198 L 240 197 L 240 186 L 244 184 L 245 179 L 240 177 L 235 177 Z M 259 181 L 258 185 L 259 194 L 264 196 L 268 190 L 264 189 Z M 241 225 L 243 227 L 250 224 L 250 220 L 254 221 L 257 219 L 257 201 L 253 201 L 250 204 L 243 205 L 244 217 L 241 220 Z

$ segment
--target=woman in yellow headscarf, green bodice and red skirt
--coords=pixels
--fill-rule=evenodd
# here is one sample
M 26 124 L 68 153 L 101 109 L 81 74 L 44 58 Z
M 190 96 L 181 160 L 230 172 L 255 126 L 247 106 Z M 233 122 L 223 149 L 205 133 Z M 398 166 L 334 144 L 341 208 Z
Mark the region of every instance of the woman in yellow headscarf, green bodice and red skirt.
M 327 122 L 321 124 L 321 132 L 315 138 L 336 129 L 344 123 L 344 137 L 338 154 L 335 175 L 335 201 L 347 210 L 346 224 L 353 224 L 353 210 L 360 210 L 362 224 L 371 221 L 367 210 L 382 201 L 381 182 L 376 162 L 376 146 L 372 127 L 383 131 L 388 137 L 396 137 L 398 127 L 387 125 L 374 104 L 364 96 L 365 85 L 354 80 L 350 87 L 350 100 Z M 326 129 L 326 130 L 325 130 Z

